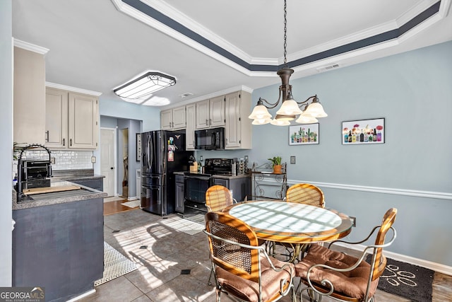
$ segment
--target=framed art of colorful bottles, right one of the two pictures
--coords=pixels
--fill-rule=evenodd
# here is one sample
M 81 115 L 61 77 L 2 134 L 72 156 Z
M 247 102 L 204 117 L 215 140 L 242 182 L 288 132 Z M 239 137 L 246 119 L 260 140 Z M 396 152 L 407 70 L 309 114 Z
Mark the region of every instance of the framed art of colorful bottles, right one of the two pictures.
M 384 144 L 384 118 L 342 122 L 342 144 Z

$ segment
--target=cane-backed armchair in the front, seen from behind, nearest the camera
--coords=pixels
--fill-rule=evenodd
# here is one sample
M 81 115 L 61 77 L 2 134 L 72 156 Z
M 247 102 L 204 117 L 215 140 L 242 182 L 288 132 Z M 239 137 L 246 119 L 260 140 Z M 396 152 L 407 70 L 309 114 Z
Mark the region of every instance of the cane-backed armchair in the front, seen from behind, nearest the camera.
M 292 294 L 292 263 L 268 256 L 244 221 L 221 212 L 206 214 L 210 260 L 215 269 L 217 301 L 225 293 L 239 301 L 278 301 Z

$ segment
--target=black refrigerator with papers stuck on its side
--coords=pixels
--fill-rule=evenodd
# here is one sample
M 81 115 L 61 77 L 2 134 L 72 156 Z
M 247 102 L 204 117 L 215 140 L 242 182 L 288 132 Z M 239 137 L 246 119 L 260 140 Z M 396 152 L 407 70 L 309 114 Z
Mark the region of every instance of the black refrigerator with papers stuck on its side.
M 141 209 L 157 215 L 174 213 L 175 171 L 189 170 L 185 130 L 141 134 Z

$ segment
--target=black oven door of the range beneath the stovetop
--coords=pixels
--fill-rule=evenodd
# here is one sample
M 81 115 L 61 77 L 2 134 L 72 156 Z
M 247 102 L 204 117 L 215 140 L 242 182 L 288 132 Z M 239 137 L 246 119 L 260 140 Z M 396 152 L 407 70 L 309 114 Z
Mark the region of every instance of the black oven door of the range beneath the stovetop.
M 185 207 L 207 211 L 206 191 L 210 187 L 210 175 L 186 175 L 184 182 Z

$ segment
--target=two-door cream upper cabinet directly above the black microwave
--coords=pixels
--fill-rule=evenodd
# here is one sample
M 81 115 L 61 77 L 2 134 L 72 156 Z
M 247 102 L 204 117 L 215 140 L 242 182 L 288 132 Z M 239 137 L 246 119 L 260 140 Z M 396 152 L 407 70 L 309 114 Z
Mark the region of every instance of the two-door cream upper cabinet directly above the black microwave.
M 225 126 L 225 96 L 196 102 L 196 129 Z

